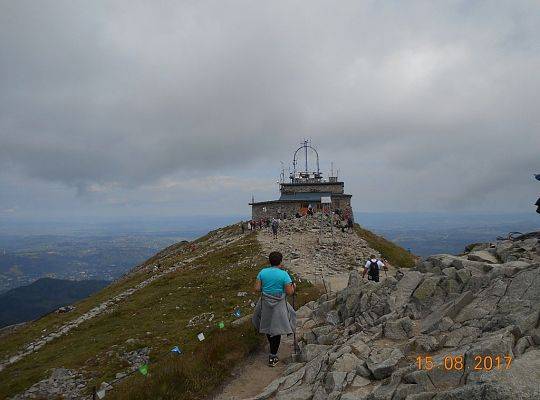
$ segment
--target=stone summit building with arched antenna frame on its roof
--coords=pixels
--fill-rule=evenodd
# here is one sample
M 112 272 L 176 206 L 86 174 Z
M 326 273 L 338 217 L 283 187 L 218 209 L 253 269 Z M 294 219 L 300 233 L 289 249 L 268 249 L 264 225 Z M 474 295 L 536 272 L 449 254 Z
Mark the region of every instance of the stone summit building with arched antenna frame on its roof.
M 308 155 L 314 154 L 315 165 L 309 170 Z M 298 162 L 303 156 L 304 170 L 299 170 Z M 312 156 L 313 157 L 313 156 Z M 333 168 L 332 168 L 333 169 Z M 266 218 L 293 218 L 297 214 L 305 215 L 308 208 L 314 211 L 324 206 L 328 210 L 340 210 L 352 216 L 350 194 L 344 193 L 344 183 L 338 180 L 337 174 L 330 173 L 325 180 L 319 169 L 319 154 L 306 140 L 293 156 L 293 171 L 289 176 L 290 182 L 285 182 L 285 171 L 282 170 L 279 182 L 281 196 L 278 200 L 251 203 L 253 220 Z

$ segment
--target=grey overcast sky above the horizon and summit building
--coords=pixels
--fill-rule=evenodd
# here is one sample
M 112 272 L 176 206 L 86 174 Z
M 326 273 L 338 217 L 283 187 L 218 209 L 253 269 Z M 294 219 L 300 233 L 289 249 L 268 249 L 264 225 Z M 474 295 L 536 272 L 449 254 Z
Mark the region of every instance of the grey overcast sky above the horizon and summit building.
M 311 138 L 358 211 L 534 212 L 540 3 L 0 0 L 0 216 L 248 214 Z

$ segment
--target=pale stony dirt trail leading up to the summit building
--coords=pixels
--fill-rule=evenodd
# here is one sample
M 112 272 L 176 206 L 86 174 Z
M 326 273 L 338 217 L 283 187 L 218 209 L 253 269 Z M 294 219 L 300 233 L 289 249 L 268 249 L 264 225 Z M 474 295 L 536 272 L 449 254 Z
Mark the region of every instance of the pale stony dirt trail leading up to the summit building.
M 349 273 L 359 268 L 371 255 L 379 254 L 352 232 L 341 232 L 328 225 L 320 233 L 320 220 L 300 218 L 281 223 L 279 235 L 274 239 L 269 229 L 257 233 L 263 255 L 271 251 L 283 254 L 283 264 L 301 279 L 323 284 L 328 291 L 338 291 L 347 286 Z M 388 276 L 395 273 L 390 267 Z M 381 272 L 381 280 L 385 274 Z M 266 345 L 267 347 L 267 345 Z M 292 337 L 283 337 L 279 349 L 280 364 L 270 368 L 268 350 L 258 352 L 238 367 L 230 382 L 213 400 L 247 400 L 257 396 L 276 378 L 281 376 L 291 363 Z

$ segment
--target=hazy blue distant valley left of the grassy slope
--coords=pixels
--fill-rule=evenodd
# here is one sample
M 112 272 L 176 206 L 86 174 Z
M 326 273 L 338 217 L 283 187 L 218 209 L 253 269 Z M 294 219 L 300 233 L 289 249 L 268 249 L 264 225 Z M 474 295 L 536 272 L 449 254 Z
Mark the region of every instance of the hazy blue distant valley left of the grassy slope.
M 201 233 L 0 235 L 0 293 L 43 277 L 111 281 L 157 251 Z

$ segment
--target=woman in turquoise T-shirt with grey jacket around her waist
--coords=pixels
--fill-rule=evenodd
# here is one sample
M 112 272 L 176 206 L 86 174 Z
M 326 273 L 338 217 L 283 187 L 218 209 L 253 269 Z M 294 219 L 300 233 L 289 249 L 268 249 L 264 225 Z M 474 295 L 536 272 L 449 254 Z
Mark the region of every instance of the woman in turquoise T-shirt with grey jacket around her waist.
M 283 255 L 273 251 L 268 256 L 270 266 L 263 268 L 257 275 L 255 291 L 261 292 L 261 297 L 255 306 L 251 322 L 260 333 L 266 334 L 270 345 L 268 366 L 275 367 L 279 362 L 277 356 L 281 335 L 289 335 L 296 329 L 296 312 L 287 302 L 296 285 L 283 269 Z

